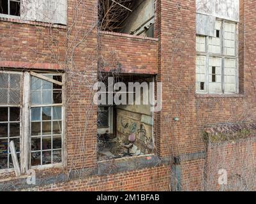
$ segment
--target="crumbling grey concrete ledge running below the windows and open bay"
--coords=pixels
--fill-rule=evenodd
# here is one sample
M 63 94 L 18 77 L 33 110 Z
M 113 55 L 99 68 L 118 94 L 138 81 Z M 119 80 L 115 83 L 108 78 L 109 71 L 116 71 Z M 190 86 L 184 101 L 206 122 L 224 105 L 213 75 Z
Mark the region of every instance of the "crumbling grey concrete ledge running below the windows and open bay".
M 205 158 L 205 152 L 195 152 L 184 154 L 176 157 L 158 157 L 154 154 L 143 155 L 138 157 L 125 157 L 107 161 L 98 161 L 98 167 L 93 169 L 81 169 L 57 175 L 36 177 L 36 184 L 27 184 L 27 178 L 17 178 L 8 182 L 0 182 L 0 191 L 19 191 L 22 189 L 36 189 L 38 186 L 68 182 L 70 180 L 86 179 L 91 176 L 104 176 L 125 171 L 142 170 L 144 168 L 154 168 L 157 166 L 174 164 L 174 159 L 178 158 L 179 162 L 193 159 Z

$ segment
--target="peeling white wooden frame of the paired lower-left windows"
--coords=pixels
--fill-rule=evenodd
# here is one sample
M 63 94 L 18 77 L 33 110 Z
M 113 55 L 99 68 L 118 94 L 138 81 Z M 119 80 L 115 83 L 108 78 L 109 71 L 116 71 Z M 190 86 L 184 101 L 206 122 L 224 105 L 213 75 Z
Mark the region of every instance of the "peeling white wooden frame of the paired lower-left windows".
M 31 76 L 32 72 L 29 71 L 0 71 L 0 73 L 15 73 L 20 74 L 20 170 L 22 173 L 26 173 L 29 169 L 41 169 L 41 168 L 58 168 L 63 167 L 66 164 L 66 151 L 65 151 L 65 74 L 64 73 L 54 73 L 48 72 L 49 75 L 59 75 L 62 76 L 62 103 L 50 104 L 50 105 L 31 105 L 30 103 L 30 86 L 31 86 Z M 46 74 L 46 73 L 43 73 Z M 40 73 L 37 74 L 40 76 Z M 23 97 L 22 97 L 23 95 Z M 13 106 L 13 105 L 0 105 L 0 106 Z M 62 107 L 62 137 L 61 137 L 61 163 L 56 164 L 43 164 L 38 166 L 31 166 L 31 108 L 36 106 L 61 106 Z M 15 105 L 16 107 L 16 105 Z M 27 111 L 28 110 L 28 111 Z M 7 168 L 0 170 L 0 173 L 7 173 L 14 171 L 14 168 Z

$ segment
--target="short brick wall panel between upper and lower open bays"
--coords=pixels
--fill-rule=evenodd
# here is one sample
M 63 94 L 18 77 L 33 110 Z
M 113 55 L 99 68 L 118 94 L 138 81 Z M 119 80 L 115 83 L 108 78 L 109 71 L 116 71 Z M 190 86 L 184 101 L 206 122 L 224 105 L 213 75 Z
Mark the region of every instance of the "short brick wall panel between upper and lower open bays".
M 100 50 L 103 71 L 157 73 L 157 41 L 154 38 L 101 31 Z

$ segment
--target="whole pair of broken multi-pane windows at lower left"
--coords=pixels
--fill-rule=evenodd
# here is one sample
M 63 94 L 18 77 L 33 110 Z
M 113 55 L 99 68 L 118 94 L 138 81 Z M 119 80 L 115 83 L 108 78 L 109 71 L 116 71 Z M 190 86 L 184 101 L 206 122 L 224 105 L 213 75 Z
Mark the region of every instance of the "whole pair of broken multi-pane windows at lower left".
M 24 145 L 27 147 L 31 139 L 31 153 L 27 152 L 31 154 L 31 162 L 20 166 L 62 163 L 62 79 L 59 73 L 0 72 L 0 170 L 13 168 L 11 141 L 20 160 L 26 155 L 24 150 L 21 154 L 20 144 L 27 141 Z M 30 105 L 26 101 L 30 101 Z M 30 117 L 26 107 L 30 107 Z M 26 131 L 29 127 L 30 131 Z

